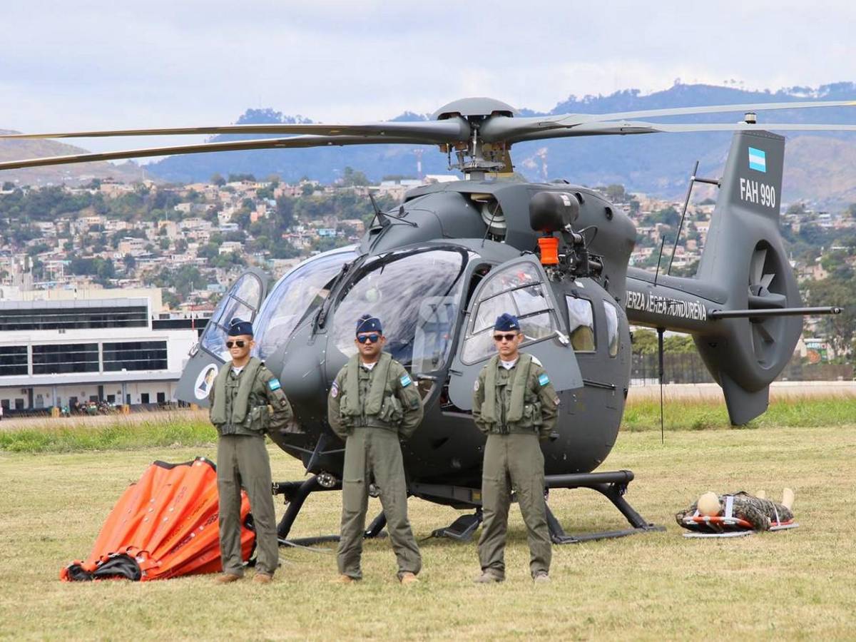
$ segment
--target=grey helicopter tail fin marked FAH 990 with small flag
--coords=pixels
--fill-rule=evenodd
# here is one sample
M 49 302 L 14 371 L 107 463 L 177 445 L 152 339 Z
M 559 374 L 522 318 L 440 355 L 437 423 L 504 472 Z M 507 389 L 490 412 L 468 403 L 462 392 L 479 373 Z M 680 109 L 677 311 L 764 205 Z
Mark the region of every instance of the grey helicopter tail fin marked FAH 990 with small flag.
M 800 306 L 779 230 L 784 149 L 776 134 L 734 134 L 696 275 L 724 286 L 723 310 Z M 693 336 L 733 424 L 767 409 L 770 383 L 794 354 L 801 330 L 801 317 L 723 318 Z

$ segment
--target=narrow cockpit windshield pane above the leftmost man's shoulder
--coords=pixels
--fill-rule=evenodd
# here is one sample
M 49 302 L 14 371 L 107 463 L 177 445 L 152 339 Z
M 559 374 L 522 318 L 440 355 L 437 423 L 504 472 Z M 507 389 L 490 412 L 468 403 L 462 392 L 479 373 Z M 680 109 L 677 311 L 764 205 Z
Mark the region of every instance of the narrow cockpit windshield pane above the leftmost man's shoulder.
M 276 283 L 256 322 L 255 353 L 265 360 L 288 340 L 306 311 L 330 294 L 342 265 L 357 257 L 354 247 L 331 250 L 298 265 Z

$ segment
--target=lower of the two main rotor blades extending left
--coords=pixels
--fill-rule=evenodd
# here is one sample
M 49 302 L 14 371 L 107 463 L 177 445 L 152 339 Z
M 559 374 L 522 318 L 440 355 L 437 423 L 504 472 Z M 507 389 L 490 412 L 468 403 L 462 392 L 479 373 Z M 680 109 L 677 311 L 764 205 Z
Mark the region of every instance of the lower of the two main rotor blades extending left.
M 69 156 L 46 158 L 27 158 L 20 161 L 0 163 L 3 169 L 22 169 L 27 167 L 45 167 L 68 163 L 88 163 L 91 161 L 121 160 L 123 158 L 145 158 L 149 156 L 168 156 L 169 154 L 200 154 L 210 152 L 241 152 L 256 149 L 288 149 L 300 147 L 332 147 L 343 145 L 371 145 L 384 143 L 407 143 L 431 145 L 433 141 L 416 136 L 292 136 L 290 138 L 235 140 L 223 143 L 200 143 L 199 145 L 177 145 L 169 147 L 148 147 L 146 149 L 124 150 L 122 152 L 87 152 Z

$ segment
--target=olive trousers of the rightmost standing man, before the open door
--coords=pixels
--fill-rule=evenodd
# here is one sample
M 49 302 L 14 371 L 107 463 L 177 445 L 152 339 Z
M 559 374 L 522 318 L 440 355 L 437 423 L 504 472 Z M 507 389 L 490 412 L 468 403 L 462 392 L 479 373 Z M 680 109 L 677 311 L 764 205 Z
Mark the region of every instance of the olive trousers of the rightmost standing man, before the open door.
M 505 538 L 512 489 L 517 493 L 526 523 L 532 577 L 549 573 L 553 549 L 544 503 L 544 454 L 535 434 L 487 437 L 482 472 L 481 568 L 505 577 Z

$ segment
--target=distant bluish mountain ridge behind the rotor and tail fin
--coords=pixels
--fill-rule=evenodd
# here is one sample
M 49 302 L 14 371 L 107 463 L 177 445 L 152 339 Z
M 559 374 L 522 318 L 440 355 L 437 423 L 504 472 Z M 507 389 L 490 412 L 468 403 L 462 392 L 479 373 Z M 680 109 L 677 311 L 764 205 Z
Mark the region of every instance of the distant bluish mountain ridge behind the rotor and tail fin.
M 502 98 L 501 96 L 497 98 Z M 788 87 L 776 92 L 746 91 L 734 86 L 685 85 L 676 82 L 663 92 L 642 95 L 627 89 L 609 96 L 570 96 L 549 112 L 520 109 L 520 116 L 562 114 L 568 112 L 604 113 L 646 110 L 704 104 L 784 102 L 788 100 L 847 100 L 856 98 L 856 85 L 841 82 L 811 87 Z M 424 120 L 427 116 L 405 112 L 393 120 Z M 856 122 L 856 110 L 783 110 L 761 112 L 759 122 Z M 739 114 L 715 114 L 691 118 L 663 119 L 664 122 L 728 122 L 740 120 Z M 303 116 L 283 116 L 282 112 L 247 110 L 238 122 L 312 122 Z M 221 136 L 214 140 L 229 140 Z M 831 139 L 831 140 L 830 140 Z M 628 190 L 662 196 L 675 196 L 686 189 L 687 176 L 696 160 L 704 175 L 716 175 L 728 151 L 730 134 L 654 134 L 615 136 L 597 139 L 552 140 L 514 146 L 516 168 L 532 180 L 544 177 L 540 150 L 546 150 L 547 177 L 567 178 L 586 185 L 621 183 Z M 856 149 L 852 134 L 803 136 L 788 135 L 783 199 L 852 200 L 856 193 L 856 173 L 848 168 Z M 431 146 L 422 158 L 425 173 L 446 171 L 445 155 Z M 383 175 L 414 174 L 414 149 L 419 146 L 333 147 L 308 150 L 270 150 L 263 152 L 225 152 L 165 158 L 147 166 L 152 174 L 168 181 L 201 181 L 215 172 L 246 172 L 257 176 L 278 174 L 286 181 L 308 176 L 318 181 L 335 181 L 342 169 L 354 167 L 372 180 Z

